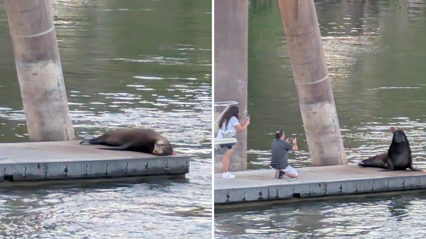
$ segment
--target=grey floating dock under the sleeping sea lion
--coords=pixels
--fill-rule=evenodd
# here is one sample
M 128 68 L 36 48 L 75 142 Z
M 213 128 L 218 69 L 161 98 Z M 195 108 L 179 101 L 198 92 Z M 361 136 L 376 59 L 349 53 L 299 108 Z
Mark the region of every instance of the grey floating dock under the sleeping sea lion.
M 155 156 L 79 143 L 0 143 L 0 186 L 11 181 L 184 176 L 189 172 L 188 155 Z

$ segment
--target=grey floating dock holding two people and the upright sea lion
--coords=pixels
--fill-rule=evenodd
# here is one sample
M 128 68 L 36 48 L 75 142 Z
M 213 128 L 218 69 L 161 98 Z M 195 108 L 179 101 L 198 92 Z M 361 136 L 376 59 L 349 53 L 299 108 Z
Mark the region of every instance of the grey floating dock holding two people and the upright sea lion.
M 235 178 L 214 177 L 214 203 L 259 202 L 291 198 L 378 193 L 426 188 L 426 172 L 387 171 L 354 164 L 296 168 L 299 178 L 275 177 L 275 170 L 233 172 Z

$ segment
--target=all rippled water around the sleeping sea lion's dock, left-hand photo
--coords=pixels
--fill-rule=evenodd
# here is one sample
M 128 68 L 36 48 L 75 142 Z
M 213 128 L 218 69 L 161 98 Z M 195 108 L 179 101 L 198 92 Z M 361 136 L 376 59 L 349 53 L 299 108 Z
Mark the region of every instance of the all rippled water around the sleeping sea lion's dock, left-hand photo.
M 185 179 L 0 190 L 2 238 L 211 238 L 211 1 L 53 0 L 77 139 L 152 127 Z M 0 1 L 0 142 L 28 141 Z

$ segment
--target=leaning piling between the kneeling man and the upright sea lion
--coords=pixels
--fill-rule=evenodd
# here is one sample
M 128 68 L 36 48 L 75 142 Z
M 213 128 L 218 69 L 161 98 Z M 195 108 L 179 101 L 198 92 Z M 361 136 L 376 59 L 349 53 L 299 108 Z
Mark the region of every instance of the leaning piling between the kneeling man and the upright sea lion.
M 347 164 L 314 0 L 279 0 L 312 166 Z

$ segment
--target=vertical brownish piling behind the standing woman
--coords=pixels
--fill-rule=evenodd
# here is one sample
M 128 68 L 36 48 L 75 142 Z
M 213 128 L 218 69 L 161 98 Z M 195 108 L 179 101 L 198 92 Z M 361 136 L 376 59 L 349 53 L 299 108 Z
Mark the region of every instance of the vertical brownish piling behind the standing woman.
M 214 101 L 237 101 L 239 118 L 247 115 L 248 0 L 214 1 Z M 216 136 L 215 132 L 215 136 Z M 247 130 L 237 132 L 229 170 L 247 170 Z M 222 156 L 215 156 L 215 162 Z M 222 167 L 215 163 L 215 172 Z

